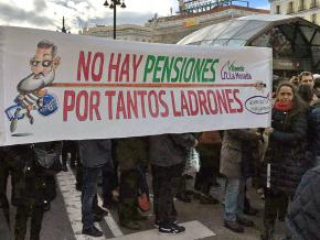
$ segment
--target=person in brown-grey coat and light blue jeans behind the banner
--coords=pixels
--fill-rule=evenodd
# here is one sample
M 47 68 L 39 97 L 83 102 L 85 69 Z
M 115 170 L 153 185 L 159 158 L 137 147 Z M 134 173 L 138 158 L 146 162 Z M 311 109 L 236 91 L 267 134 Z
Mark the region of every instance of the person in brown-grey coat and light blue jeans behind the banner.
M 260 132 L 256 129 L 224 131 L 220 172 L 226 176 L 224 226 L 232 231 L 243 232 L 254 222 L 244 217 L 246 179 L 253 175 L 253 161 L 257 161 Z

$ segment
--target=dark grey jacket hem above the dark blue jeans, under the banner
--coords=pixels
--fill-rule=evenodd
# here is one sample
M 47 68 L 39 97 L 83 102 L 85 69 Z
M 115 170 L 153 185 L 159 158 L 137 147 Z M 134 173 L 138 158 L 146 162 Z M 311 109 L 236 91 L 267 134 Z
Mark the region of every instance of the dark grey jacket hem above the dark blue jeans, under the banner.
M 85 167 L 100 167 L 111 162 L 111 141 L 108 139 L 81 140 L 79 155 Z

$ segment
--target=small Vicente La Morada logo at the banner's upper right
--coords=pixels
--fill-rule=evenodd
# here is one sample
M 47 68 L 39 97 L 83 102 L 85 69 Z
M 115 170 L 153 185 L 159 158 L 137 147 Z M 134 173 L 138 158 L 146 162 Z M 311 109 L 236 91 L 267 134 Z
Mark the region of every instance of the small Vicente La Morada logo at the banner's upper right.
M 236 64 L 236 62 L 231 64 L 230 61 L 221 68 L 221 78 L 232 80 L 253 79 L 252 75 L 246 73 L 244 66 Z

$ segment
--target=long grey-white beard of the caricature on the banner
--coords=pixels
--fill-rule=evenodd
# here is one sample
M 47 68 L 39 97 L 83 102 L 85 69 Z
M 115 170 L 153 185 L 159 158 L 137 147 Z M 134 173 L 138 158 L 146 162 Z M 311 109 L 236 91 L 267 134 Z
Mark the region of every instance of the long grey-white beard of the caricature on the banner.
M 29 94 L 32 91 L 40 90 L 50 84 L 53 83 L 54 80 L 54 70 L 51 70 L 45 77 L 40 74 L 36 78 L 34 77 L 35 74 L 30 74 L 28 77 L 23 78 L 19 84 L 18 84 L 18 91 L 22 94 Z

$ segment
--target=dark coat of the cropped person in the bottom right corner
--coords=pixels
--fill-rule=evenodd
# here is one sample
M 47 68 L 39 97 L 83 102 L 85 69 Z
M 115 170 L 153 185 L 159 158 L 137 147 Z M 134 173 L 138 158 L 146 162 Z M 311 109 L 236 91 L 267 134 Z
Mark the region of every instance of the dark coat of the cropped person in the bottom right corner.
M 292 240 L 320 240 L 320 166 L 299 184 L 286 222 Z

